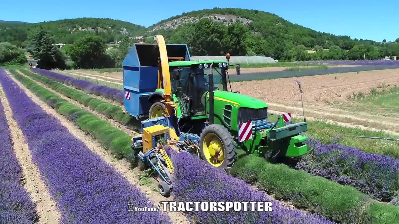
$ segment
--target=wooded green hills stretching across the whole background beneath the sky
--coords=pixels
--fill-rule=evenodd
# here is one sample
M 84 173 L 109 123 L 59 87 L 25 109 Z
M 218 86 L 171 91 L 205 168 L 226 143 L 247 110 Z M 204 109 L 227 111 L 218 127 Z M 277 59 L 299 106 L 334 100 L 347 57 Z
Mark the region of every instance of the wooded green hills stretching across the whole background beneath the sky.
M 168 43 L 187 43 L 193 55 L 230 52 L 238 56 L 264 55 L 286 61 L 363 59 L 365 51 L 369 59 L 399 56 L 397 44 L 319 32 L 269 12 L 239 8 L 186 12 L 148 28 L 109 18 L 77 18 L 35 24 L 0 22 L 0 42 L 26 48 L 30 31 L 38 26 L 48 29 L 56 43 L 73 43 L 86 34 L 99 35 L 104 43 L 120 40 L 126 35 L 143 36 L 147 43 L 151 43 L 154 35 L 161 34 Z M 311 49 L 329 51 L 317 50 L 317 53 L 308 54 Z

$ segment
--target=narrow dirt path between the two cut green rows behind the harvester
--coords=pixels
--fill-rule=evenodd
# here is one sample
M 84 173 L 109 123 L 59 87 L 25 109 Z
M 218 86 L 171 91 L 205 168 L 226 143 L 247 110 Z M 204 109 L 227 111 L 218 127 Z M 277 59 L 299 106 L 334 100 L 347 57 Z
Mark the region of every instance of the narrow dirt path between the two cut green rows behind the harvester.
M 36 84 L 38 84 L 38 85 L 40 85 L 40 86 L 43 86 L 43 87 L 47 88 L 47 90 L 53 92 L 53 93 L 56 94 L 57 96 L 59 96 L 59 97 L 63 98 L 64 100 L 66 100 L 67 102 L 69 102 L 69 103 L 71 103 L 71 104 L 74 104 L 74 105 L 78 106 L 79 108 L 81 108 L 81 109 L 83 109 L 83 110 L 86 110 L 87 112 L 92 113 L 92 114 L 94 114 L 95 116 L 98 116 L 98 117 L 101 118 L 102 120 L 105 120 L 105 121 L 109 122 L 110 124 L 112 124 L 112 126 L 118 128 L 119 130 L 122 130 L 123 132 L 126 132 L 127 134 L 130 134 L 130 136 L 136 136 L 136 135 L 138 134 L 137 132 L 135 132 L 135 131 L 133 131 L 133 130 L 130 130 L 129 128 L 127 128 L 127 127 L 124 126 L 123 124 L 120 124 L 119 122 L 113 120 L 112 118 L 107 118 L 107 116 L 105 116 L 104 114 L 101 114 L 101 113 L 99 113 L 99 112 L 97 112 L 97 111 L 95 111 L 95 110 L 92 110 L 89 106 L 85 106 L 84 104 L 81 104 L 81 103 L 77 102 L 76 100 L 74 100 L 74 99 L 72 99 L 72 98 L 69 98 L 68 96 L 63 95 L 62 93 L 59 93 L 59 92 L 53 90 L 52 88 L 50 88 L 49 86 L 46 86 L 46 85 L 43 84 L 43 83 L 40 83 L 39 81 L 36 81 L 36 80 L 34 80 L 34 79 L 31 79 L 29 76 L 25 75 L 24 73 L 22 73 L 22 72 L 19 71 L 19 70 L 17 70 L 17 71 L 18 71 L 18 73 L 19 73 L 20 75 L 23 75 L 24 77 L 26 77 L 26 78 L 28 78 L 28 79 L 34 81 Z M 61 84 L 61 83 L 60 83 L 60 84 Z M 67 86 L 67 87 L 69 87 L 69 86 Z M 115 105 L 115 106 L 117 106 L 117 105 Z

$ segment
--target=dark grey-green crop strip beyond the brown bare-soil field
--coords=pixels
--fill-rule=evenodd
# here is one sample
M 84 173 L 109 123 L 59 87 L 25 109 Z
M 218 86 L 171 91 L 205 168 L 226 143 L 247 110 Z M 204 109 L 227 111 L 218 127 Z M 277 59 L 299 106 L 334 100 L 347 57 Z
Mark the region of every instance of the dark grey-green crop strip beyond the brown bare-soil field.
M 249 81 L 257 79 L 277 79 L 277 78 L 290 78 L 301 77 L 310 75 L 324 75 L 333 73 L 348 73 L 381 69 L 399 69 L 399 65 L 365 65 L 356 67 L 330 67 L 322 70 L 302 70 L 302 71 L 272 71 L 272 72 L 257 72 L 257 73 L 243 73 L 236 75 L 235 70 L 230 71 L 230 81 Z

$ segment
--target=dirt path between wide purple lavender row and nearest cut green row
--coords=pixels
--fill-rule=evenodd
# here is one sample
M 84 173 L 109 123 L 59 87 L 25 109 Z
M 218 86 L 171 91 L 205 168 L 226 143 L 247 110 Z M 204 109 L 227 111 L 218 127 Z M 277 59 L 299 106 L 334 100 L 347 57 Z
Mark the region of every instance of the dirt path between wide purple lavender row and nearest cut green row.
M 160 195 L 158 192 L 153 191 L 150 187 L 140 186 L 140 181 L 138 179 L 138 174 L 142 173 L 138 168 L 130 169 L 131 165 L 126 159 L 117 160 L 113 157 L 112 153 L 105 149 L 95 138 L 92 138 L 90 135 L 86 134 L 82 130 L 80 130 L 77 126 L 72 124 L 67 118 L 57 113 L 57 111 L 47 104 L 45 104 L 38 96 L 36 96 L 33 92 L 31 92 L 28 88 L 26 88 L 22 83 L 16 80 L 13 76 L 10 77 L 16 82 L 22 90 L 26 92 L 26 94 L 32 98 L 36 104 L 38 104 L 45 112 L 55 116 L 59 120 L 59 122 L 67 128 L 67 130 L 76 138 L 81 140 L 85 145 L 93 151 L 93 153 L 97 153 L 103 158 L 103 160 L 112 165 L 118 172 L 122 173 L 124 177 L 132 184 L 135 185 L 141 192 L 145 193 L 148 198 L 150 198 L 154 204 L 157 206 L 160 201 L 173 201 L 173 197 L 165 198 Z M 182 212 L 167 212 L 172 222 L 175 224 L 188 224 L 186 216 Z

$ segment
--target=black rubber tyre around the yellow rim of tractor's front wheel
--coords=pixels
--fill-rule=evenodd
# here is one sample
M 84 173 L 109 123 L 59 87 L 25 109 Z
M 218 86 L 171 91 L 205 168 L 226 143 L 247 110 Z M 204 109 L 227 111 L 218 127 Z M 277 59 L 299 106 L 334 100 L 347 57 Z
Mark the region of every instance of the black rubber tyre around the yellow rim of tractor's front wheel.
M 213 135 L 217 136 L 219 138 L 219 140 L 221 141 L 221 143 L 223 144 L 224 158 L 223 158 L 223 163 L 221 163 L 221 164 L 214 165 L 205 156 L 204 141 L 205 141 L 205 136 L 207 136 L 209 134 L 211 136 L 213 136 Z M 199 149 L 201 151 L 202 159 L 204 159 L 205 161 L 208 161 L 211 165 L 213 165 L 219 169 L 226 169 L 228 167 L 231 167 L 231 165 L 233 165 L 233 163 L 235 162 L 235 155 L 237 153 L 236 142 L 234 141 L 233 136 L 231 135 L 229 130 L 227 130 L 227 128 L 225 128 L 223 125 L 211 124 L 211 125 L 207 126 L 206 128 L 204 128 L 202 130 L 201 136 L 199 138 Z M 209 157 L 209 153 L 206 153 L 206 154 Z

